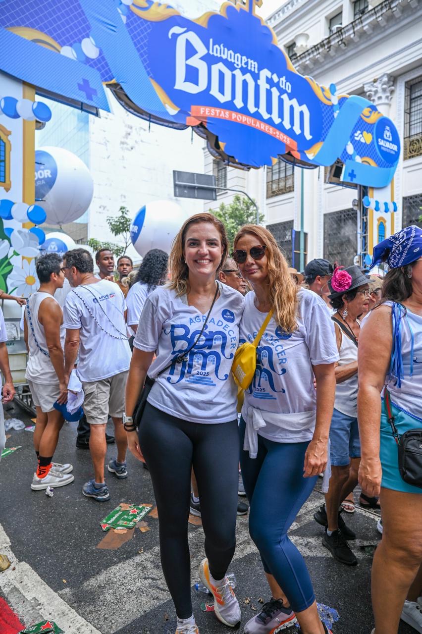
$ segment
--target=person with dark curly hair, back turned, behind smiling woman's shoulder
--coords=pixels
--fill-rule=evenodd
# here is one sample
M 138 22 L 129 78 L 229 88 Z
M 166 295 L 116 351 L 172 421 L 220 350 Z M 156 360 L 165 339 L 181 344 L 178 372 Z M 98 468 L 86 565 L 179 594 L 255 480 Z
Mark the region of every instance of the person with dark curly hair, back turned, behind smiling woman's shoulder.
M 165 282 L 168 262 L 169 256 L 161 249 L 151 249 L 145 254 L 137 270 L 136 280 L 126 296 L 126 323 L 132 334 L 136 333 L 146 298 L 157 286 L 162 286 Z

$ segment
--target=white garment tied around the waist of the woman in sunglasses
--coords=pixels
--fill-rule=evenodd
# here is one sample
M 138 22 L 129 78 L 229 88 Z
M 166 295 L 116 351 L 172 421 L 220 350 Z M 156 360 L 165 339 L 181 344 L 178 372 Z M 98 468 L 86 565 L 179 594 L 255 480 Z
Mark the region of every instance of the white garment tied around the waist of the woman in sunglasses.
M 309 443 L 314 436 L 316 410 L 279 413 L 259 410 L 256 407 L 244 403 L 242 418 L 246 423 L 243 450 L 249 452 L 250 458 L 256 458 L 258 454 L 258 434 L 262 432 L 267 425 L 271 427 L 272 439 L 278 443 Z M 262 435 L 264 437 L 267 436 L 265 433 Z M 274 436 L 276 436 L 276 438 Z M 327 466 L 324 471 L 322 485 L 323 493 L 328 491 L 328 482 L 331 477 L 329 439 L 327 456 Z

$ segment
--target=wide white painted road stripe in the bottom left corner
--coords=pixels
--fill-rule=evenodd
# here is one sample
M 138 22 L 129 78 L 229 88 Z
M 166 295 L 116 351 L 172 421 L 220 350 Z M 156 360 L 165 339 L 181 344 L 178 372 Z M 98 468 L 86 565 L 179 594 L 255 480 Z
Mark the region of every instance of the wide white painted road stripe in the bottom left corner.
M 28 564 L 16 559 L 1 524 L 0 552 L 13 562 L 0 575 L 0 590 L 25 625 L 51 620 L 71 634 L 101 634 L 51 590 Z

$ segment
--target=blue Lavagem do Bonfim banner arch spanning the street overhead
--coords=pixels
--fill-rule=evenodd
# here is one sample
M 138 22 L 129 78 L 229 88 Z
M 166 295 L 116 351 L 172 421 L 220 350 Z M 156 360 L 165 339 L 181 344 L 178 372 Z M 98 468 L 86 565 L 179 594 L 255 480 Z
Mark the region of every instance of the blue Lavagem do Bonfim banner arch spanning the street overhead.
M 371 101 L 298 74 L 256 14 L 260 0 L 225 2 L 196 20 L 153 0 L 67 0 L 64 13 L 56 0 L 42 4 L 41 12 L 24 0 L 1 3 L 0 44 L 10 53 L 1 65 L 11 75 L 98 107 L 98 80 L 108 82 L 137 114 L 193 127 L 234 166 L 273 165 L 279 155 L 310 167 L 341 159 L 354 183 L 393 178 L 393 122 Z

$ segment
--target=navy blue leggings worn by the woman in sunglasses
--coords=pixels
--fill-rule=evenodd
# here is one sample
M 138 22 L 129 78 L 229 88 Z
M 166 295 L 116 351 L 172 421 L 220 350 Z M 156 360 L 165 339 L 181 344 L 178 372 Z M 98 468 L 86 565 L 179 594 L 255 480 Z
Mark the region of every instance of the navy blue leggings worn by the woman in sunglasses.
M 243 448 L 243 418 L 240 436 Z M 249 457 L 248 451 L 240 452 L 243 484 L 250 502 L 250 536 L 265 573 L 276 579 L 294 612 L 302 612 L 315 600 L 305 561 L 287 536 L 317 480 L 317 476 L 303 477 L 308 444 L 274 443 L 258 436 L 255 459 Z

